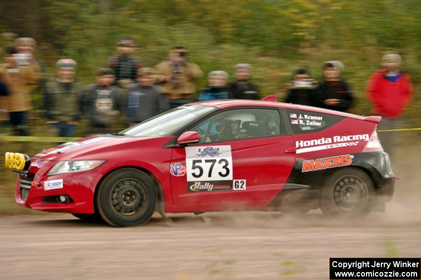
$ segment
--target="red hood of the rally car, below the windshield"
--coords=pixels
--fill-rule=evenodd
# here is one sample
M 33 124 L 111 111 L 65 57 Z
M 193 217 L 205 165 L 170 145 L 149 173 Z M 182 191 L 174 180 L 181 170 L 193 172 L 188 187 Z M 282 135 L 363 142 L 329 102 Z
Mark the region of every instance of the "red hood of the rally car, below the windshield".
M 48 161 L 102 160 L 107 159 L 110 154 L 118 153 L 118 151 L 124 149 L 134 147 L 142 149 L 161 148 L 173 137 L 89 136 L 43 150 L 33 156 L 32 159 Z

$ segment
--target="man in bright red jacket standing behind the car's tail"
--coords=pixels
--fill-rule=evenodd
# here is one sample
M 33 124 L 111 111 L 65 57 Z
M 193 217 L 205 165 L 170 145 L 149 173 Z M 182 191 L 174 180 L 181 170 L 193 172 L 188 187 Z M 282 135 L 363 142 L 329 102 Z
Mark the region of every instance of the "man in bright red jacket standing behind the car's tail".
M 378 129 L 397 129 L 399 118 L 413 94 L 411 78 L 400 70 L 401 56 L 384 55 L 381 62 L 383 68 L 370 77 L 367 96 L 372 102 L 372 112 L 382 116 Z M 391 155 L 396 132 L 381 132 L 379 137 L 384 150 Z

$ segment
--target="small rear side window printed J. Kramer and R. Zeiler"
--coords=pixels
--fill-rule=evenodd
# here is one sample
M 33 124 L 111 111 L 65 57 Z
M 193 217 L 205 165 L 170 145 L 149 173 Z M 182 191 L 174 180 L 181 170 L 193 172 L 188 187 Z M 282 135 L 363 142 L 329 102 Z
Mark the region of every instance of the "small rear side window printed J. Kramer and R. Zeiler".
M 311 111 L 285 109 L 294 134 L 321 131 L 344 117 Z

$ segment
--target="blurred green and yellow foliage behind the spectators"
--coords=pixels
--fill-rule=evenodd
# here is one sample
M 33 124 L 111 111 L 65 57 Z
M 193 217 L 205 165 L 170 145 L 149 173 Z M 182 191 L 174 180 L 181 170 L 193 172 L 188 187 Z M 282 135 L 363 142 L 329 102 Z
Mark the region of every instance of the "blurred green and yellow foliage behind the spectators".
M 358 99 L 352 112 L 359 114 L 369 113 L 365 87 L 380 57 L 399 52 L 419 96 L 417 0 L 22 0 L 3 1 L 0 12 L 0 30 L 35 37 L 51 74 L 58 58 L 71 57 L 84 83 L 106 65 L 120 38 L 131 37 L 147 66 L 164 59 L 170 46 L 185 45 L 205 73 L 232 74 L 235 63 L 252 63 L 262 94 L 281 97 L 295 68 L 309 66 L 319 79 L 323 61 L 342 60 Z M 420 125 L 415 100 L 407 115 Z

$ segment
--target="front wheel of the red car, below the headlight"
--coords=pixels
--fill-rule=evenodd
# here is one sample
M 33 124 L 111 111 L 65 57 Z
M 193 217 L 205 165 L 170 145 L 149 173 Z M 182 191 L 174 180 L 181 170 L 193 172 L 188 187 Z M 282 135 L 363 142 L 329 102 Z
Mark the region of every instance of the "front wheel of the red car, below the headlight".
M 97 208 L 110 225 L 140 225 L 154 214 L 157 197 L 155 185 L 145 172 L 124 168 L 109 174 L 102 182 Z

